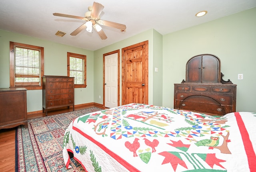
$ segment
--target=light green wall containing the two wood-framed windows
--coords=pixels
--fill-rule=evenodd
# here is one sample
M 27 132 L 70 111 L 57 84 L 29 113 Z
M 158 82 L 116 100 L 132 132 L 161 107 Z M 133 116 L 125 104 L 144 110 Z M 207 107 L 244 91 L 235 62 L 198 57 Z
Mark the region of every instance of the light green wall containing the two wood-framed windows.
M 67 76 L 67 52 L 86 55 L 87 87 L 75 89 L 75 105 L 93 102 L 93 51 L 0 30 L 0 88 L 10 86 L 10 41 L 44 47 L 44 74 Z M 27 111 L 42 110 L 42 90 L 27 91 Z

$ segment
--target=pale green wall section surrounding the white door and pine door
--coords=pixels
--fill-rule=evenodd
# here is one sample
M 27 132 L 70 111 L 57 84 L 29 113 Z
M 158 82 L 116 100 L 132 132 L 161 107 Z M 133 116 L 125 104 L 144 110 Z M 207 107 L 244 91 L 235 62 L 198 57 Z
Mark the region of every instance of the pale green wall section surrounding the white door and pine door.
M 103 104 L 103 54 L 115 51 L 120 49 L 120 58 L 122 57 L 122 48 L 128 47 L 130 45 L 134 45 L 136 43 L 140 43 L 148 40 L 148 103 L 162 105 L 162 80 L 153 76 L 153 61 L 156 59 L 154 56 L 154 51 L 159 51 L 161 63 L 157 63 L 160 68 L 162 68 L 162 35 L 160 35 L 154 29 L 149 29 L 148 31 L 144 31 L 138 35 L 125 39 L 123 41 L 114 43 L 112 45 L 106 46 L 102 49 L 98 49 L 94 51 L 94 102 Z M 154 47 L 154 48 L 153 48 Z M 120 71 L 122 71 L 122 60 L 120 59 Z M 122 72 L 120 72 L 120 75 Z M 121 76 L 120 76 L 121 77 Z M 162 76 L 161 76 L 162 77 Z M 159 78 L 161 78 L 159 77 Z M 156 100 L 153 99 L 153 92 L 157 88 L 153 88 L 154 80 L 158 81 L 157 88 L 159 88 L 158 98 Z M 160 82 L 159 82 L 160 81 Z M 99 98 L 101 96 L 101 99 Z M 120 78 L 120 105 L 122 101 L 122 80 Z M 153 102 L 154 100 L 154 102 Z

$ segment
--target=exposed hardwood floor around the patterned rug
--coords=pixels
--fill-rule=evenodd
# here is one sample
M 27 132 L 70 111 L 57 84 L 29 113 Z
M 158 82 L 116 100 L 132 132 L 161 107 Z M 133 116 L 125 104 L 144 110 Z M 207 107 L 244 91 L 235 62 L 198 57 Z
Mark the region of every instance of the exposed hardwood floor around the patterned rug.
M 91 107 L 75 107 L 75 110 L 85 108 Z M 48 116 L 65 113 L 68 111 L 72 111 L 72 108 L 58 109 L 57 111 L 48 111 Z M 28 119 L 44 116 L 44 113 L 38 113 L 35 115 L 29 115 Z M 0 172 L 15 172 L 15 130 L 16 127 L 11 129 L 0 129 Z

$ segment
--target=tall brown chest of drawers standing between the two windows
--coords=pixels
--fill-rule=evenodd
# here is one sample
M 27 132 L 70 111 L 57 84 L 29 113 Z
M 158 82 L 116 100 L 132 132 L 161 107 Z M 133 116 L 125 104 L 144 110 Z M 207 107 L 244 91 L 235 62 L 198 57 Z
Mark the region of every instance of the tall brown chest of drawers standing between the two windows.
M 44 110 L 73 106 L 74 77 L 43 76 L 43 113 Z

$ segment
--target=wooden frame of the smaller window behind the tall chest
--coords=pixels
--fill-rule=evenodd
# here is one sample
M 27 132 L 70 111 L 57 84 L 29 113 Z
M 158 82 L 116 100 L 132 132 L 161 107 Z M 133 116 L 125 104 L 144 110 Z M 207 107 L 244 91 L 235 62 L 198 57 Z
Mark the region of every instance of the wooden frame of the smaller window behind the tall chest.
M 68 59 L 68 76 L 70 77 L 70 61 L 69 57 L 84 59 L 84 84 L 74 84 L 74 88 L 86 88 L 86 55 L 80 55 L 76 53 L 67 53 Z

